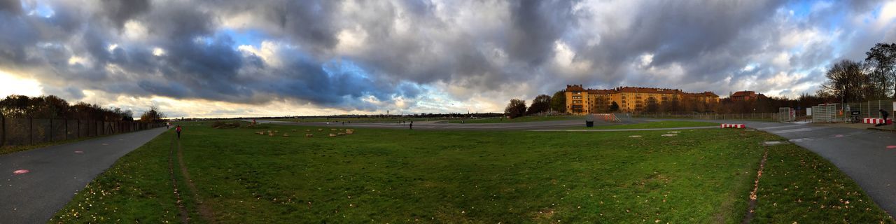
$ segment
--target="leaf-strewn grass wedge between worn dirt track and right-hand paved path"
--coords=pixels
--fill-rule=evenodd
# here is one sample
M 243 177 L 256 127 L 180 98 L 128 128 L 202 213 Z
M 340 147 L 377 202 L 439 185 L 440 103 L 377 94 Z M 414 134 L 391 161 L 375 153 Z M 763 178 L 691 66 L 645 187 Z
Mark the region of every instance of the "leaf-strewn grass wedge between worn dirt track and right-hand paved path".
M 830 161 L 798 147 L 774 152 L 760 179 L 757 223 L 893 223 Z

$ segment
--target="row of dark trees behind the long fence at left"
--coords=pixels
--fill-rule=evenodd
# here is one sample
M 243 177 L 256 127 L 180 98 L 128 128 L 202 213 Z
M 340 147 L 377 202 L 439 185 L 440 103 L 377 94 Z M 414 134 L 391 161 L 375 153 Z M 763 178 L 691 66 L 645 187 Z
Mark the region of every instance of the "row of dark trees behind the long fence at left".
M 65 99 L 50 95 L 29 97 L 10 95 L 0 100 L 0 113 L 5 117 L 65 118 L 98 121 L 133 121 L 134 112 L 122 108 L 102 108 L 96 104 L 77 102 L 69 104 Z M 162 122 L 164 114 L 151 107 L 143 112 L 140 120 L 145 123 Z

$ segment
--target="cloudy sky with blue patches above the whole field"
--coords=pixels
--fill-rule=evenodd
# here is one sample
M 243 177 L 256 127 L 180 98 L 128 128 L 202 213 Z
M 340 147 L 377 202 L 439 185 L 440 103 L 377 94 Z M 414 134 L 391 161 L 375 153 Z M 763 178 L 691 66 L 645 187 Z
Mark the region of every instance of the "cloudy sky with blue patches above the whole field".
M 769 96 L 896 42 L 892 1 L 0 0 L 0 95 L 138 114 L 502 112 L 566 84 Z

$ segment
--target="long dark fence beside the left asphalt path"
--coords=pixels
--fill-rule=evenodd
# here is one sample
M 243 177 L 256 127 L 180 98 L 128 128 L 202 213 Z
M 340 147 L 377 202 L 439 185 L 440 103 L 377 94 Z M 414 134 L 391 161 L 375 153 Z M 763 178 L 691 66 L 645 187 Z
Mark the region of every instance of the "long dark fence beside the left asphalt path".
M 141 131 L 165 124 L 0 116 L 0 147 Z

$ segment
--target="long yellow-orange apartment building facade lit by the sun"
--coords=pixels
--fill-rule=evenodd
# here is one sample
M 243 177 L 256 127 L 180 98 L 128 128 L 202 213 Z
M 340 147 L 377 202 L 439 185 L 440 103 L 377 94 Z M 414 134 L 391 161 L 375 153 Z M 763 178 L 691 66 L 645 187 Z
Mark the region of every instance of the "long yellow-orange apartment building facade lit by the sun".
M 617 87 L 612 90 L 584 89 L 582 85 L 566 85 L 566 111 L 573 114 L 590 114 L 609 111 L 613 103 L 620 111 L 642 111 L 650 102 L 695 100 L 702 103 L 719 103 L 719 95 L 711 91 L 689 93 L 682 90 Z

